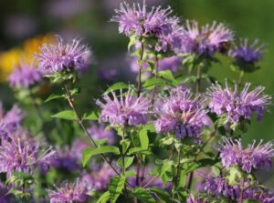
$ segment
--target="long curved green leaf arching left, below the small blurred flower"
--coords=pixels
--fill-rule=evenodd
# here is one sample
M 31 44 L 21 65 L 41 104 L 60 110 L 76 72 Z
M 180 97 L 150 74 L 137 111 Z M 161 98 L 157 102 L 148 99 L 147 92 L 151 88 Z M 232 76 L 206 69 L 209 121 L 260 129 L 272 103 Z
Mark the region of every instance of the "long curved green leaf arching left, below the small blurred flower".
M 83 156 L 82 156 L 82 165 L 85 167 L 90 160 L 90 158 L 94 155 L 99 155 L 99 154 L 104 154 L 104 153 L 114 153 L 119 155 L 120 150 L 118 147 L 115 146 L 101 146 L 97 148 L 86 148 L 83 151 Z

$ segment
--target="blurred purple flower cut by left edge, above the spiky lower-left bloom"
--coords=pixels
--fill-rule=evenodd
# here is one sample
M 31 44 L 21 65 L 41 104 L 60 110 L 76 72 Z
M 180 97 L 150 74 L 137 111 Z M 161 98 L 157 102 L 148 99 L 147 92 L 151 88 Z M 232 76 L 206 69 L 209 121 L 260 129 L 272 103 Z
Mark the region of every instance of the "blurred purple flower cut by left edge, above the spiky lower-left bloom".
M 16 105 L 5 113 L 2 103 L 0 102 L 0 120 L 1 128 L 6 132 L 13 132 L 21 126 L 21 120 L 24 117 L 22 110 Z

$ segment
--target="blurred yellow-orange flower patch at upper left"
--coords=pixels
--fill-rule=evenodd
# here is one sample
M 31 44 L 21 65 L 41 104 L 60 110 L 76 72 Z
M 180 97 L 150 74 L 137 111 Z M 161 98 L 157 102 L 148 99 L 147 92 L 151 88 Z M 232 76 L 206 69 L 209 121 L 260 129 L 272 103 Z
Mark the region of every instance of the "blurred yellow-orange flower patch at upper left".
M 5 82 L 7 76 L 13 71 L 20 62 L 26 64 L 33 63 L 33 53 L 38 52 L 38 47 L 54 41 L 54 36 L 37 36 L 27 39 L 23 46 L 15 47 L 3 53 L 0 53 L 0 82 Z

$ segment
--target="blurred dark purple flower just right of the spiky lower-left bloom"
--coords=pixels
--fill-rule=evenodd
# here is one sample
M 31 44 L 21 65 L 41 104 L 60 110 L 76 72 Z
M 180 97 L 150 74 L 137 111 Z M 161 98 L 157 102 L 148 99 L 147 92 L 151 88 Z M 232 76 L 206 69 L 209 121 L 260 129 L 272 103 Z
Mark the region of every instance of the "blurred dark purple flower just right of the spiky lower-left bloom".
M 50 163 L 51 167 L 67 169 L 68 171 L 74 171 L 79 169 L 79 157 L 78 153 L 70 148 L 59 148 L 57 147 L 56 158 Z

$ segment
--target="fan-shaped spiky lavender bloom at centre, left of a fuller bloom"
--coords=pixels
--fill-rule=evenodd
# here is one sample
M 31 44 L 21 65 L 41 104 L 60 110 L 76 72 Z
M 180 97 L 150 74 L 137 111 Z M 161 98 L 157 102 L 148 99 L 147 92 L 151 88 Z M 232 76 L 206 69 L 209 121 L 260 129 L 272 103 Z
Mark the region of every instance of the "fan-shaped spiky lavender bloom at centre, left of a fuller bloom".
M 148 109 L 150 100 L 143 95 L 133 96 L 133 89 L 130 88 L 123 96 L 120 90 L 120 98 L 111 91 L 111 96 L 103 96 L 105 104 L 97 100 L 96 104 L 102 108 L 99 118 L 100 122 L 110 122 L 111 126 L 137 126 L 146 124 L 148 121 Z

